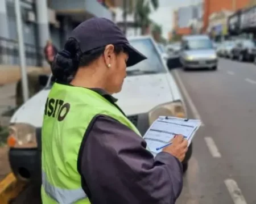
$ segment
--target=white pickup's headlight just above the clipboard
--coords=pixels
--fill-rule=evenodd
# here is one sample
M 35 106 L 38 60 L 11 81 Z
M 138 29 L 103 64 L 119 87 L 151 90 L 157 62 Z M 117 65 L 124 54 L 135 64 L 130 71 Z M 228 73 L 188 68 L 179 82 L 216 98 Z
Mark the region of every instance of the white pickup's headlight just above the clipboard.
M 172 116 L 186 118 L 185 108 L 181 101 L 161 104 L 148 113 L 149 124 L 151 125 L 159 116 Z

